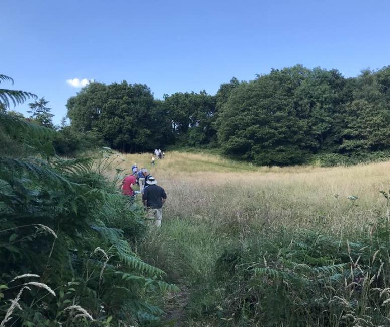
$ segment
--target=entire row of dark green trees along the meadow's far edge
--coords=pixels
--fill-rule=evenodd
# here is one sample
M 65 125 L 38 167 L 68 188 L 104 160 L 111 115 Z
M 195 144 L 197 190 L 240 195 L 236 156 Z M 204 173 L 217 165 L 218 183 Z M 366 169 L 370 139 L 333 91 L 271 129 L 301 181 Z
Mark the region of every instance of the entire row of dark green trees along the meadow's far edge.
M 345 78 L 296 65 L 250 81 L 232 78 L 215 95 L 177 92 L 162 100 L 146 85 L 95 82 L 68 100 L 70 125 L 55 144 L 60 154 L 91 144 L 123 152 L 217 148 L 256 165 L 364 158 L 390 148 L 389 90 L 390 66 Z M 40 118 L 31 109 L 48 126 L 47 113 Z

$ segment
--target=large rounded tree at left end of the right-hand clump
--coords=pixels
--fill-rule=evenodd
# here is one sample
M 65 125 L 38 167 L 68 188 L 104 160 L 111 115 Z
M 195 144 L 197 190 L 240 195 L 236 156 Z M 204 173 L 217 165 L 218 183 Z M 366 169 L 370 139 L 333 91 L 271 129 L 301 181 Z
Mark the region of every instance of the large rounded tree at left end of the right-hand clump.
M 259 165 L 299 163 L 307 156 L 307 121 L 294 105 L 294 93 L 308 70 L 295 66 L 243 83 L 218 116 L 218 136 L 226 154 Z

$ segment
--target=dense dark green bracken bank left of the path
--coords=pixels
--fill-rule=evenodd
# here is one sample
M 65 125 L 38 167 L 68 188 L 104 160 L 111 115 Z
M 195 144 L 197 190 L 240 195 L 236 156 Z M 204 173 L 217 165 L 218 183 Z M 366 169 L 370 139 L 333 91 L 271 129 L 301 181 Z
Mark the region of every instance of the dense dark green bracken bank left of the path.
M 105 177 L 111 153 L 63 159 L 54 131 L 0 114 L 0 325 L 147 325 L 177 287 L 140 259 L 143 209 Z M 28 151 L 25 151 L 25 148 Z M 31 155 L 31 154 L 34 155 Z

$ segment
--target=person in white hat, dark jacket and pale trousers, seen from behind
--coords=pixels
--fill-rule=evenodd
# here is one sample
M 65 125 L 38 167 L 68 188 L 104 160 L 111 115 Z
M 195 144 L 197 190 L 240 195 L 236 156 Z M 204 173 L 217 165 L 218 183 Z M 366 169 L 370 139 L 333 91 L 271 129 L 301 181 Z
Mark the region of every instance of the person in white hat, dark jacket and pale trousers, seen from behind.
M 142 194 L 143 203 L 147 209 L 148 218 L 154 220 L 154 225 L 161 226 L 162 207 L 167 200 L 167 194 L 164 189 L 157 185 L 153 176 L 149 176 L 146 181 L 147 187 Z

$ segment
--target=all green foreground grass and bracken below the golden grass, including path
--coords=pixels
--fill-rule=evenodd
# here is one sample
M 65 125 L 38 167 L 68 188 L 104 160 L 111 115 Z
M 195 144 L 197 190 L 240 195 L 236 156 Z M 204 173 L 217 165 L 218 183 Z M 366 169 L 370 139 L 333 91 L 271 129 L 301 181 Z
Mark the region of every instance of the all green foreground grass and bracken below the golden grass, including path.
M 168 311 L 182 307 L 183 325 L 390 324 L 388 216 L 343 236 L 321 224 L 299 231 L 223 228 L 172 219 L 139 249 L 185 290 L 166 303 Z

